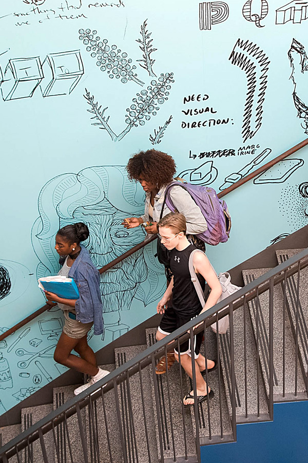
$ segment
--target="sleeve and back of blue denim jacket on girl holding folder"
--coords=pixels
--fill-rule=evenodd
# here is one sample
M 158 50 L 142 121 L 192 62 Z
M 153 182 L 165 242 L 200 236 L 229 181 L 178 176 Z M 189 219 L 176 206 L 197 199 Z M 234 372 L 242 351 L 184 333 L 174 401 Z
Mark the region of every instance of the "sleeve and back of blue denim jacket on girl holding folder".
M 79 299 L 76 301 L 82 307 L 87 307 L 87 312 L 91 313 L 94 322 L 94 334 L 102 334 L 104 331 L 103 305 L 100 293 L 99 271 L 93 269 L 91 265 L 83 265 L 80 270 L 80 278 L 84 280 L 84 286 L 80 288 Z M 75 306 L 76 311 L 77 307 Z

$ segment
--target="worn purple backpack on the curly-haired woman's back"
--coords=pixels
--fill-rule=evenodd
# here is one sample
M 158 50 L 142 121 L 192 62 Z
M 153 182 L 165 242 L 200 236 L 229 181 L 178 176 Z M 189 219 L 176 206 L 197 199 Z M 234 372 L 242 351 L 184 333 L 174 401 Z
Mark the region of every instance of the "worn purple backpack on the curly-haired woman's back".
M 225 201 L 220 201 L 213 188 L 203 185 L 191 185 L 190 183 L 183 184 L 182 182 L 172 182 L 172 184 L 168 185 L 166 188 L 164 200 L 164 204 L 166 204 L 172 212 L 176 212 L 177 210 L 170 199 L 170 189 L 175 185 L 188 191 L 191 198 L 195 201 L 197 206 L 200 207 L 206 220 L 207 229 L 196 236 L 205 243 L 213 246 L 218 243 L 225 243 L 229 238 L 231 228 L 231 217 Z

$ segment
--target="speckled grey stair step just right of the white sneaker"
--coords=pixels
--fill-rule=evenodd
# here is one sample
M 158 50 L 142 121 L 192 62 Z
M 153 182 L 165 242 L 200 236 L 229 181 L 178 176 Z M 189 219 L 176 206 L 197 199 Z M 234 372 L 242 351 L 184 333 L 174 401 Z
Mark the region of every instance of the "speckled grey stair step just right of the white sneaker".
M 125 364 L 145 349 L 145 345 L 115 349 L 115 366 L 119 367 Z M 122 430 L 128 463 L 135 461 L 157 463 L 159 461 L 149 368 L 146 367 L 141 371 L 145 412 L 143 412 L 139 372 L 130 377 L 129 385 L 127 381 L 124 381 L 118 386 Z M 146 424 L 144 423 L 144 415 Z

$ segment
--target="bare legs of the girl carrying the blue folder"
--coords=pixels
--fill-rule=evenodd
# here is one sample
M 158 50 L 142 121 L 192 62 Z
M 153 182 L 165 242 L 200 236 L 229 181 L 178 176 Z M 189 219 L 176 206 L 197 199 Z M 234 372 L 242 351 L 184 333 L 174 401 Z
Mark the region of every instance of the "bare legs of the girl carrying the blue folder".
M 98 366 L 96 365 L 96 361 L 95 365 L 93 365 L 87 360 L 71 354 L 71 351 L 75 349 L 78 344 L 79 347 L 77 348 L 80 348 L 80 345 L 83 345 L 83 343 L 86 341 L 87 336 L 84 336 L 81 339 L 73 339 L 67 334 L 62 333 L 53 354 L 55 362 L 61 363 L 61 365 L 65 365 L 68 368 L 73 368 L 74 370 L 80 371 L 81 373 L 86 373 L 89 376 L 95 376 L 99 371 Z M 89 353 L 86 355 L 89 355 Z

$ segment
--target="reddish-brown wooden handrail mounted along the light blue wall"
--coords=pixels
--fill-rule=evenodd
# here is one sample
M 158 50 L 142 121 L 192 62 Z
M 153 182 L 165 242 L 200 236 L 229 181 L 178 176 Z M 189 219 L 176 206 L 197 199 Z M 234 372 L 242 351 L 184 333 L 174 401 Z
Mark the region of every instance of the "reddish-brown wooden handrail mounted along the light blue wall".
M 244 183 L 248 182 L 249 180 L 254 179 L 257 175 L 259 175 L 262 172 L 265 172 L 265 170 L 275 166 L 275 164 L 279 163 L 279 161 L 282 161 L 282 159 L 286 158 L 287 156 L 290 156 L 291 154 L 294 154 L 296 151 L 300 150 L 301 148 L 303 148 L 306 145 L 308 145 L 308 138 L 301 141 L 297 145 L 293 146 L 292 148 L 290 148 L 290 150 L 287 150 L 284 153 L 280 154 L 279 156 L 275 157 L 274 159 L 272 159 L 272 161 L 269 161 L 268 163 L 264 164 L 264 166 L 259 167 L 259 169 L 256 169 L 253 172 L 249 173 L 248 175 L 245 175 L 242 179 L 238 180 L 233 185 L 229 186 L 228 188 L 225 188 L 223 191 L 220 191 L 218 193 L 218 198 L 224 197 L 226 194 L 228 194 L 231 191 L 235 190 L 236 188 L 240 187 Z M 107 263 L 101 269 L 99 269 L 100 274 L 102 274 L 102 273 L 106 272 L 107 270 L 111 269 L 114 265 L 117 265 L 118 263 L 122 262 L 122 260 L 124 260 L 127 257 L 131 256 L 133 253 L 136 253 L 136 251 L 139 251 L 144 246 L 146 246 L 148 243 L 151 243 L 152 241 L 154 241 L 156 239 L 157 239 L 157 235 L 153 235 L 152 237 L 150 237 L 146 241 L 142 241 L 141 243 L 137 244 L 136 246 L 133 246 L 130 250 L 126 251 L 126 253 L 122 254 L 121 256 L 117 257 L 116 259 L 113 259 L 111 262 Z M 48 309 L 50 309 L 50 306 L 48 304 L 46 304 L 45 306 L 43 306 L 40 309 L 36 310 L 35 312 L 31 313 L 31 315 L 28 315 L 21 322 L 17 323 L 12 328 L 8 329 L 3 334 L 1 334 L 0 335 L 0 341 L 3 341 L 7 336 L 9 336 L 10 334 L 13 334 L 16 330 L 23 327 L 27 323 L 31 322 L 31 320 L 36 318 L 38 315 L 41 315 L 42 313 L 44 313 Z

